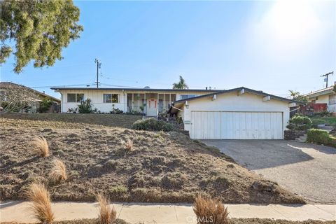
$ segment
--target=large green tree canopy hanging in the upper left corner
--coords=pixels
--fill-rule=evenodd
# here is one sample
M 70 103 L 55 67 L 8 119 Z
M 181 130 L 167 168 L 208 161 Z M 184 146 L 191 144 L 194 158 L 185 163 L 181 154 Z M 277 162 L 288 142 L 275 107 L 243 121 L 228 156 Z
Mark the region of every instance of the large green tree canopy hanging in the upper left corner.
M 79 14 L 72 0 L 0 1 L 0 64 L 13 52 L 15 73 L 31 60 L 35 67 L 52 66 L 83 31 Z

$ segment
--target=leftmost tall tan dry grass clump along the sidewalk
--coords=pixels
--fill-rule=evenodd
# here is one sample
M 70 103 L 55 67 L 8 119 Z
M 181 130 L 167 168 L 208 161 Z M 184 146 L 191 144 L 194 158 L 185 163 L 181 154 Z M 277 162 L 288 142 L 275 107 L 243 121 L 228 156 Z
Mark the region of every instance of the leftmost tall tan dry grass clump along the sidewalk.
M 41 223 L 50 224 L 54 221 L 52 213 L 50 195 L 48 190 L 42 184 L 32 184 L 27 191 L 27 199 L 32 202 L 32 211 L 34 216 Z

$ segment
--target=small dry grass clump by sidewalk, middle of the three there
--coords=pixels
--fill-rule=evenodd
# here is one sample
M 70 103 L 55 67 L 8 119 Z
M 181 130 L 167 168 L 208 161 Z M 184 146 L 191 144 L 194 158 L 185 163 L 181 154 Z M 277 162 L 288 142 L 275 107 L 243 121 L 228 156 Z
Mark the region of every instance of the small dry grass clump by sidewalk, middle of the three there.
M 99 203 L 99 221 L 100 224 L 111 224 L 116 220 L 116 209 L 110 207 L 110 202 L 104 195 L 97 195 Z

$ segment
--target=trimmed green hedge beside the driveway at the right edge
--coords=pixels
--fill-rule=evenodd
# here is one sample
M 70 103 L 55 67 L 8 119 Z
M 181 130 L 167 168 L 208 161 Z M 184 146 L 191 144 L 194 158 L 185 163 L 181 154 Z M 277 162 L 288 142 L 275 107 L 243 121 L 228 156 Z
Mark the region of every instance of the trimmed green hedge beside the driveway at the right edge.
M 315 144 L 323 144 L 336 148 L 336 138 L 330 136 L 327 131 L 311 129 L 307 132 L 307 141 Z

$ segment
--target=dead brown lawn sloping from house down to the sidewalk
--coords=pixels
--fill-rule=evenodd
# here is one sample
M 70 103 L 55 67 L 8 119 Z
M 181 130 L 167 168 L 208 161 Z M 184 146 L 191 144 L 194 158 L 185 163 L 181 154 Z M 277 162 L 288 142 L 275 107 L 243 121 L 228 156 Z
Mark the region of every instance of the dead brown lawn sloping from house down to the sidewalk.
M 44 183 L 52 200 L 94 201 L 94 195 L 103 193 L 113 202 L 193 202 L 200 193 L 225 203 L 304 203 L 216 148 L 181 133 L 94 125 L 65 128 L 51 121 L 29 128 L 40 121 L 0 121 L 0 200 L 25 199 L 31 183 Z M 29 149 L 36 136 L 47 139 L 47 158 Z M 132 151 L 122 144 L 128 139 Z M 55 159 L 64 162 L 68 173 L 57 184 L 48 180 Z

